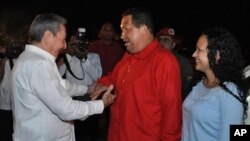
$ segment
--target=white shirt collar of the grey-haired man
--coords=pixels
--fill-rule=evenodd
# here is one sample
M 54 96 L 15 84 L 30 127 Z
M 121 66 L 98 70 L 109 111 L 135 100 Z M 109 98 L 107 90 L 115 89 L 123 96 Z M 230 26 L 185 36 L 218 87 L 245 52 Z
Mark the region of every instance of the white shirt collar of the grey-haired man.
M 35 45 L 26 45 L 25 50 L 39 54 L 45 58 L 48 58 L 49 60 L 51 60 L 53 62 L 55 62 L 55 60 L 56 60 L 55 56 L 51 55 L 49 52 L 47 52 L 47 51 L 45 51 L 45 50 L 43 50 Z

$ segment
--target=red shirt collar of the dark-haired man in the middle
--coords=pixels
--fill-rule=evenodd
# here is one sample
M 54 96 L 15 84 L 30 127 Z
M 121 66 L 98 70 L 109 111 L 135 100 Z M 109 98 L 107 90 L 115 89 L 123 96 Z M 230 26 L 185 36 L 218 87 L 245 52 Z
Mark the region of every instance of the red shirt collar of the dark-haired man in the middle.
M 155 48 L 159 46 L 159 43 L 155 39 L 152 43 L 150 43 L 147 47 L 145 47 L 142 51 L 136 54 L 130 54 L 131 56 L 137 58 L 137 59 L 144 59 L 147 56 L 149 56 Z

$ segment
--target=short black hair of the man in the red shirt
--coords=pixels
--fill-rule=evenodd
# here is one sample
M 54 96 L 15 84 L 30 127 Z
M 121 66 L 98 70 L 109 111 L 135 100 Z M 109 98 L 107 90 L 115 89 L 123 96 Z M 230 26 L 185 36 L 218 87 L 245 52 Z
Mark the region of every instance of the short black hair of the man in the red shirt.
M 154 34 L 154 22 L 153 17 L 151 13 L 142 7 L 135 7 L 126 10 L 122 17 L 124 16 L 132 16 L 132 23 L 135 25 L 135 27 L 139 28 L 142 25 L 146 25 L 150 31 L 151 34 Z

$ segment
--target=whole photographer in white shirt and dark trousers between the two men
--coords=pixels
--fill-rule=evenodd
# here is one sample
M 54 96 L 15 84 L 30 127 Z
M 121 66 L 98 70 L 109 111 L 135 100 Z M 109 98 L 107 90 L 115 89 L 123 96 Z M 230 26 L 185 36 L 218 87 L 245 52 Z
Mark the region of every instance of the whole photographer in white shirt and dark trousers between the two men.
M 85 32 L 85 28 L 78 28 L 78 31 L 70 36 L 68 48 L 62 55 L 63 62 L 59 66 L 59 72 L 70 83 L 91 86 L 101 77 L 102 66 L 99 55 L 88 51 L 89 42 Z M 89 95 L 74 98 L 86 101 Z M 98 129 L 98 117 L 99 115 L 93 115 L 84 121 L 75 120 L 76 139 L 87 141 L 93 138 L 92 134 L 95 134 L 95 130 Z M 85 134 L 82 134 L 83 131 Z

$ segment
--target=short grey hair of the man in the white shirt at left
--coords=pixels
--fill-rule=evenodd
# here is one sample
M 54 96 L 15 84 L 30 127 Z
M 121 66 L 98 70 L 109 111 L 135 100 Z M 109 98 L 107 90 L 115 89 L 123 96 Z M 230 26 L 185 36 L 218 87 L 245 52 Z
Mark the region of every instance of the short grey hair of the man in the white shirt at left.
M 64 17 L 54 13 L 37 15 L 29 29 L 29 41 L 41 41 L 45 31 L 51 31 L 53 35 L 59 31 L 61 25 L 66 25 L 67 21 Z

